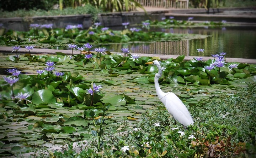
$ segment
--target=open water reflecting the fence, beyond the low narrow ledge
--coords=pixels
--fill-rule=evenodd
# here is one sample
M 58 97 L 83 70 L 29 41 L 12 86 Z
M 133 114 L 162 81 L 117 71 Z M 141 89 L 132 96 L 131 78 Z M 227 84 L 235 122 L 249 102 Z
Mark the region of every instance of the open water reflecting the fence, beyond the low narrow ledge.
M 203 56 L 226 52 L 229 58 L 256 59 L 256 27 L 225 28 L 171 28 L 155 29 L 166 33 L 188 33 L 211 35 L 206 39 L 186 41 L 150 42 L 150 43 L 118 43 L 95 45 L 105 47 L 110 52 L 121 52 L 127 47 L 131 53 L 166 54 L 198 56 L 197 49 L 204 49 Z

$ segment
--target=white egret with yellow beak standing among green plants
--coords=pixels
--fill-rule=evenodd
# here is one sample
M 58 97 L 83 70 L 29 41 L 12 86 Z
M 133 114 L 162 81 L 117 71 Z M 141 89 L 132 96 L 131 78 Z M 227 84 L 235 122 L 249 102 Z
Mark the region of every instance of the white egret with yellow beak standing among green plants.
M 159 87 L 158 80 L 162 76 L 162 68 L 158 60 L 154 60 L 153 62 L 148 62 L 146 64 L 156 65 L 158 68 L 158 73 L 155 74 L 155 89 L 158 98 L 161 100 L 162 104 L 165 105 L 168 112 L 172 115 L 172 117 L 180 122 L 184 128 L 186 126 L 194 124 L 194 121 L 191 117 L 190 112 L 187 110 L 187 107 L 182 103 L 182 101 L 172 92 L 164 93 Z

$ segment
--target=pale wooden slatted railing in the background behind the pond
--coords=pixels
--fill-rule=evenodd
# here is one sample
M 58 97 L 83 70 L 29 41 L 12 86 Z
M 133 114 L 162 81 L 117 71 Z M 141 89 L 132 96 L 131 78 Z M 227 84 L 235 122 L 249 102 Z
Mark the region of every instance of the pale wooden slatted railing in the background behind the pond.
M 136 0 L 143 7 L 188 8 L 188 0 Z

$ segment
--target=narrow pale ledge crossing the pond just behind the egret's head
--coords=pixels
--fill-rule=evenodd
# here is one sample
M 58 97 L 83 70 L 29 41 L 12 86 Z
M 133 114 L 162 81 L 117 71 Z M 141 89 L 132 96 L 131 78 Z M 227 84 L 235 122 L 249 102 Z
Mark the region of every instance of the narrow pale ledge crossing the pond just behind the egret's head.
M 12 47 L 0 47 L 0 52 L 3 53 L 11 53 Z M 62 52 L 65 54 L 70 54 L 70 50 L 59 50 L 59 49 L 40 49 L 40 48 L 34 48 L 30 51 L 32 54 L 56 54 L 55 52 Z M 15 52 L 12 52 L 15 54 Z M 26 48 L 20 48 L 18 53 L 28 53 Z M 112 53 L 120 53 L 121 52 L 112 52 Z M 79 51 L 73 51 L 73 54 L 79 54 Z M 133 54 L 133 53 L 131 53 Z M 162 54 L 140 54 L 137 53 L 140 56 L 146 56 L 146 57 L 160 57 L 161 59 L 169 59 L 169 58 L 177 58 L 178 55 L 162 55 Z M 192 60 L 193 56 L 185 56 L 184 60 Z M 213 59 L 212 57 L 203 57 L 203 60 L 209 60 Z M 247 64 L 256 64 L 256 59 L 242 59 L 242 58 L 226 58 L 226 62 L 239 62 L 239 63 L 247 63 Z

